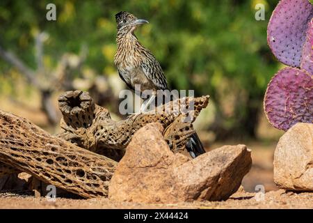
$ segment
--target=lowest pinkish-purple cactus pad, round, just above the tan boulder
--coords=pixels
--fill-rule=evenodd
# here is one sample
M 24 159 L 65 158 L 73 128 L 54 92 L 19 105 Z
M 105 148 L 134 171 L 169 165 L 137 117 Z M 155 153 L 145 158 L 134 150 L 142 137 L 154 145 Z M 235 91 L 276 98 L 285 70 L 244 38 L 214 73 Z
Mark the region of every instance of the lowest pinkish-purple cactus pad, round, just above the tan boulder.
M 264 111 L 279 130 L 287 131 L 296 123 L 313 123 L 313 76 L 298 68 L 280 70 L 266 89 Z

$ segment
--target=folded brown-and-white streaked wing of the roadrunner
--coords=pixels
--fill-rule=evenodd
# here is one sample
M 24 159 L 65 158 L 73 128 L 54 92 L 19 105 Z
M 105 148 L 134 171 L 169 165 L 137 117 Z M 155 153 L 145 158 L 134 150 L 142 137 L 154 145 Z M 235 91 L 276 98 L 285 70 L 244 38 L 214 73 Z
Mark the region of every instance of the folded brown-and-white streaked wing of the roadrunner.
M 168 82 L 164 76 L 164 72 L 160 63 L 155 59 L 152 54 L 148 54 L 145 60 L 141 62 L 141 69 L 143 70 L 147 79 L 149 79 L 154 86 L 159 90 L 167 90 Z

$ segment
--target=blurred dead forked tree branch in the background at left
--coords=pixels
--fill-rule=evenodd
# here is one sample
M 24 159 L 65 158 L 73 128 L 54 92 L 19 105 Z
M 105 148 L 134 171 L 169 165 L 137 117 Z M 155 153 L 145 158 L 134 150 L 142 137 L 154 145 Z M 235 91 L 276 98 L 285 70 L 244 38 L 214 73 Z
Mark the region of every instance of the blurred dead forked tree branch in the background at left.
M 44 42 L 47 39 L 47 33 L 40 32 L 35 36 L 35 59 L 37 63 L 36 70 L 29 68 L 19 59 L 13 52 L 8 52 L 0 45 L 0 57 L 10 63 L 11 66 L 26 77 L 26 80 L 40 91 L 41 107 L 47 115 L 49 123 L 55 125 L 58 123 L 58 115 L 56 108 L 51 102 L 51 96 L 54 92 L 61 89 L 72 89 L 71 75 L 72 70 L 81 68 L 83 62 L 86 60 L 87 47 L 82 46 L 79 56 L 74 54 L 64 54 L 61 60 L 58 61 L 58 66 L 53 71 L 48 71 L 43 63 L 44 56 Z M 53 84 L 51 84 L 53 83 Z M 70 84 L 69 84 L 70 83 Z

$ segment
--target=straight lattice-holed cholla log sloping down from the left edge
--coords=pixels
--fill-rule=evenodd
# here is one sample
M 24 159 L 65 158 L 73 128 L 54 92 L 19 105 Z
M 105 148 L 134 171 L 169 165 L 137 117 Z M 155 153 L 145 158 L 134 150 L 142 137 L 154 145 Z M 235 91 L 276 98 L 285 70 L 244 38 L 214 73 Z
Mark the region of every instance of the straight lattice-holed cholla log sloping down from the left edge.
M 0 112 L 0 161 L 82 197 L 106 196 L 117 162 Z

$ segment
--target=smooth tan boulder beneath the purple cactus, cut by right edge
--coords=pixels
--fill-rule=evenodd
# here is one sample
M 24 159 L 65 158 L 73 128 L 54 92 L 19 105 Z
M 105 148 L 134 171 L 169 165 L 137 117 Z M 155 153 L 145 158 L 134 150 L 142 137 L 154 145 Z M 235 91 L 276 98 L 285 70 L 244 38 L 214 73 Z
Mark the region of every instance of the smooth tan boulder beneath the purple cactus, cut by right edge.
M 313 124 L 297 123 L 280 138 L 274 181 L 283 189 L 313 191 Z

